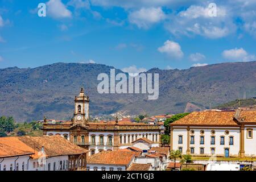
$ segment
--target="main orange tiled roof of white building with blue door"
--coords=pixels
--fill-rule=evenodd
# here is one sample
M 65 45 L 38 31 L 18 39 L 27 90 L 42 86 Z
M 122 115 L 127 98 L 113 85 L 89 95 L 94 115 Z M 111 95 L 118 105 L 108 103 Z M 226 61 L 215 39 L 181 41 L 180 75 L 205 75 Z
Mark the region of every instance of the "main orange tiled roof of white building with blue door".
M 237 126 L 234 111 L 196 111 L 170 125 L 228 125 Z

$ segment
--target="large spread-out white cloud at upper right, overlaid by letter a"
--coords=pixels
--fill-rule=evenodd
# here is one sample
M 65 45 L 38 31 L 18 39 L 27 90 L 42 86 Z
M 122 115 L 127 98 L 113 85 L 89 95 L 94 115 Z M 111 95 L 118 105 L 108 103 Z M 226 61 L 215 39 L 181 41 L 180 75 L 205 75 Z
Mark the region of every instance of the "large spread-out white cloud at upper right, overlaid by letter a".
M 212 17 L 209 16 L 208 6 L 192 5 L 170 16 L 165 27 L 174 35 L 201 35 L 211 39 L 222 38 L 236 31 L 232 12 L 224 6 L 217 6 L 217 16 Z

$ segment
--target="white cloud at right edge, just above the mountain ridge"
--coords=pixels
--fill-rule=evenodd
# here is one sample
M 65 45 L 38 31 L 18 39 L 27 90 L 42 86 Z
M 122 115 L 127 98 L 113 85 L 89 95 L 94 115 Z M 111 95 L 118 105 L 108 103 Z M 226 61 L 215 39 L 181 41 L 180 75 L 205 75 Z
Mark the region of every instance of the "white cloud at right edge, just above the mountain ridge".
M 234 48 L 222 52 L 222 56 L 230 61 L 255 61 L 255 55 L 249 55 L 243 48 Z

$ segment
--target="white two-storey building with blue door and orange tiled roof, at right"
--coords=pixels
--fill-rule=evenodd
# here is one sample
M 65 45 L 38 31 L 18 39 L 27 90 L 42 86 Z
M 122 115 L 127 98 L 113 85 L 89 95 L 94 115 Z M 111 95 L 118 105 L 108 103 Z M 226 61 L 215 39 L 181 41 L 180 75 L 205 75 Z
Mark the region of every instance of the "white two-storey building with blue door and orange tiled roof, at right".
M 196 111 L 171 123 L 171 150 L 182 154 L 251 157 L 256 154 L 256 111 Z

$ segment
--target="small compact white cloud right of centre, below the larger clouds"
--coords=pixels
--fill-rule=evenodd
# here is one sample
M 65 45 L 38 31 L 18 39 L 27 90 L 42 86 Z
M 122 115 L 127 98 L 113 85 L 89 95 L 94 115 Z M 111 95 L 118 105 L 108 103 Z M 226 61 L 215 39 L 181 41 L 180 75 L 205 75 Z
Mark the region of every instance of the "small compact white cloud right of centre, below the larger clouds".
M 179 43 L 172 42 L 171 40 L 166 40 L 164 45 L 158 48 L 158 51 L 176 59 L 181 59 L 184 55 Z

